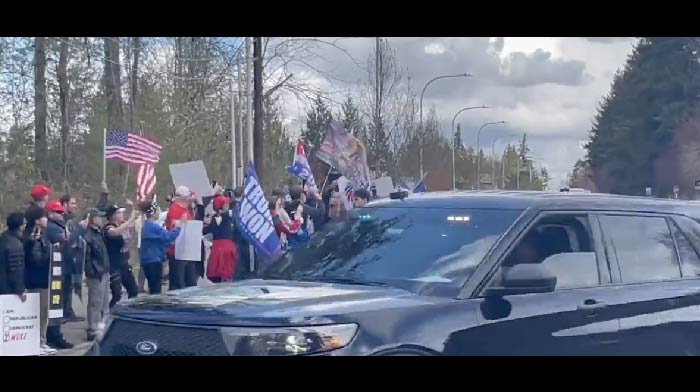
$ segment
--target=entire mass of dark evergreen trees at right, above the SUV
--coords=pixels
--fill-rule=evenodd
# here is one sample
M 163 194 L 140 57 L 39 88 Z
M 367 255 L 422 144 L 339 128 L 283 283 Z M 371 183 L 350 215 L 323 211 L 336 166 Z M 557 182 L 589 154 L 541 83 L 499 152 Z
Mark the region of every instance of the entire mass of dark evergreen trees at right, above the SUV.
M 572 186 L 693 196 L 700 179 L 700 39 L 642 37 L 599 105 Z

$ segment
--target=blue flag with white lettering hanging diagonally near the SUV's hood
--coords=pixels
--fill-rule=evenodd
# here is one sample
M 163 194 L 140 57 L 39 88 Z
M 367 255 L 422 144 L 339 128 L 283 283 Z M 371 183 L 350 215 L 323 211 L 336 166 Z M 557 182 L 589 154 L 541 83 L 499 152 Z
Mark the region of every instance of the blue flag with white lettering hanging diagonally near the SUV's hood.
M 245 190 L 236 211 L 236 226 L 258 254 L 270 257 L 279 252 L 280 239 L 253 163 L 248 165 Z

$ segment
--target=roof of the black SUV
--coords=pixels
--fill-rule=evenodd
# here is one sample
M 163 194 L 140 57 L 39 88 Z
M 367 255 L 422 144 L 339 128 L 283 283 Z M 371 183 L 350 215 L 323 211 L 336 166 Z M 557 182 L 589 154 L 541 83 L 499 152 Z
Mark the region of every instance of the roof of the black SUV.
M 617 210 L 674 213 L 700 219 L 700 202 L 605 193 L 537 191 L 453 191 L 413 193 L 403 200 L 381 199 L 374 207 Z

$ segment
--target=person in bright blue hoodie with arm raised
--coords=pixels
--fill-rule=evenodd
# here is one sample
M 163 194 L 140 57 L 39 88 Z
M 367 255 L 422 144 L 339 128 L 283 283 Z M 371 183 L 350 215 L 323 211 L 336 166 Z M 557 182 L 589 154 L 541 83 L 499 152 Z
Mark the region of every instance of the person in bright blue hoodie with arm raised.
M 160 294 L 163 287 L 163 263 L 168 261 L 165 248 L 175 242 L 180 234 L 180 227 L 187 220 L 187 215 L 182 216 L 177 227 L 167 231 L 158 222 L 160 208 L 155 200 L 139 203 L 139 210 L 146 216 L 141 228 L 141 248 L 139 249 L 141 268 L 146 275 L 148 292 Z

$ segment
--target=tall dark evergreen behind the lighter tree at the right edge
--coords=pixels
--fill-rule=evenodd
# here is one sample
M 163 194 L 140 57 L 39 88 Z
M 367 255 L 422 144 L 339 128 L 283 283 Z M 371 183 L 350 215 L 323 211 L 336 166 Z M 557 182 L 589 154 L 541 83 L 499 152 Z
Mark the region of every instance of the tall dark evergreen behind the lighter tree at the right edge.
M 585 148 L 598 190 L 641 195 L 647 186 L 670 192 L 655 164 L 700 97 L 695 37 L 641 38 L 615 75 Z

